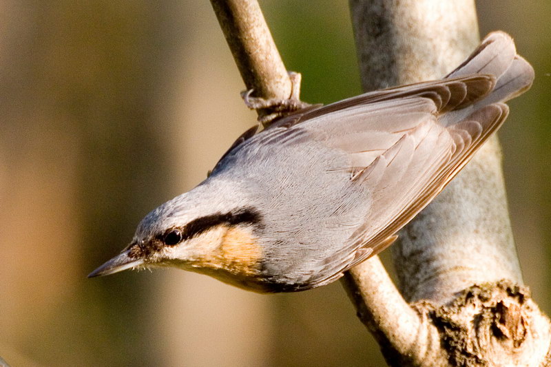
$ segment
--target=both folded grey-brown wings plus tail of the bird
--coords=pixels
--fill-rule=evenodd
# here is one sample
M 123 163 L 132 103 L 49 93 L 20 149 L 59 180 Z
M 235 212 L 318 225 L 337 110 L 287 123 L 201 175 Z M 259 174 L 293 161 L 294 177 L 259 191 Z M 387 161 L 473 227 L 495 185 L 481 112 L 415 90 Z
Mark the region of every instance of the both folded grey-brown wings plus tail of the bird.
M 214 171 L 241 149 L 250 149 L 248 154 L 268 145 L 284 149 L 316 142 L 345 156 L 346 167 L 331 169 L 347 171 L 349 189 L 368 192 L 371 202 L 363 220 L 346 223 L 353 231 L 350 237 L 314 262 L 309 280 L 297 286 L 327 284 L 388 247 L 503 123 L 508 107 L 500 102 L 528 90 L 533 78 L 532 67 L 516 54 L 512 39 L 494 32 L 442 80 L 312 106 L 258 134 L 251 129 Z

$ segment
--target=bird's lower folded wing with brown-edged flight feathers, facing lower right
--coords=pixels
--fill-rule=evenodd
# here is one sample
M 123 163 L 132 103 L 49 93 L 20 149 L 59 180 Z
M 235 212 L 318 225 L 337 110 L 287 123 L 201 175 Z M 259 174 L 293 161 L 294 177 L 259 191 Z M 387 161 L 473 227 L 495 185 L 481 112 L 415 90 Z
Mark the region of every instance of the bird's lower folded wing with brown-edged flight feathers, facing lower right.
M 444 189 L 486 138 L 501 126 L 507 114 L 507 105 L 495 103 L 479 109 L 466 121 L 453 127 L 430 125 L 435 130 L 425 136 L 421 134 L 420 127 L 415 132 L 404 135 L 391 148 L 392 151 L 388 149 L 385 154 L 377 157 L 370 167 L 354 178 L 360 185 L 375 185 L 373 196 L 376 200 L 366 222 L 331 258 L 320 262 L 322 269 L 316 271 L 309 280 L 309 288 L 332 282 L 342 272 L 390 246 L 396 239 L 395 233 Z M 438 127 L 441 128 L 440 131 Z M 421 140 L 417 142 L 419 138 Z M 417 145 L 412 151 L 413 141 Z M 407 159 L 407 165 L 402 164 L 405 157 L 399 157 L 398 154 L 412 155 Z M 398 159 L 389 160 L 392 156 Z M 399 182 L 393 182 L 393 175 L 399 169 L 403 169 L 405 173 L 401 175 Z M 411 180 L 414 177 L 417 180 Z M 393 182 L 393 185 L 388 185 L 389 182 Z

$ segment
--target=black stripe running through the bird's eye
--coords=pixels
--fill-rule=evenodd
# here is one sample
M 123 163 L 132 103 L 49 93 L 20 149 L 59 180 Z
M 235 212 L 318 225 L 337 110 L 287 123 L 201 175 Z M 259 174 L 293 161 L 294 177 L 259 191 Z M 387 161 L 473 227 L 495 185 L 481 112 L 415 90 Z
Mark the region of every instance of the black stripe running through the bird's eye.
M 184 227 L 178 229 L 170 229 L 166 233 L 160 236 L 161 240 L 164 240 L 165 236 L 169 233 L 179 230 L 181 234 L 181 240 L 189 240 L 191 238 L 200 235 L 201 233 L 216 227 L 220 224 L 228 224 L 229 226 L 236 226 L 238 224 L 258 224 L 262 221 L 262 217 L 258 211 L 251 208 L 240 209 L 239 211 L 229 213 L 214 213 L 210 216 L 204 216 L 191 220 Z

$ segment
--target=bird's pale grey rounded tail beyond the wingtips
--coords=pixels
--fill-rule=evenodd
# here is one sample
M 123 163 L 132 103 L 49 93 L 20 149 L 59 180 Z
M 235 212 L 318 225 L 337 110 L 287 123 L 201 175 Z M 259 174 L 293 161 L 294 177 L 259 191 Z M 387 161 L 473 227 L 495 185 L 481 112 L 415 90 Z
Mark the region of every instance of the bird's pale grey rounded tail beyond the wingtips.
M 487 74 L 495 78 L 495 87 L 479 101 L 444 116 L 444 125 L 453 125 L 479 109 L 506 102 L 530 89 L 534 69 L 517 54 L 512 38 L 505 32 L 492 32 L 477 50 L 446 78 L 461 78 L 472 74 Z M 503 118 L 504 119 L 504 118 Z

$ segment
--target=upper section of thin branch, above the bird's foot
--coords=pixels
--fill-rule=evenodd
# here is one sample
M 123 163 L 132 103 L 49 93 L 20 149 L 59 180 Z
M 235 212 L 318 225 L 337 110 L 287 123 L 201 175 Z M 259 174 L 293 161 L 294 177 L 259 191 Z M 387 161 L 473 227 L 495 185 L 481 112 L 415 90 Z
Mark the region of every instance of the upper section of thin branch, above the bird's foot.
M 247 90 L 264 99 L 291 96 L 291 81 L 256 0 L 211 0 Z M 271 113 L 258 111 L 259 116 Z

